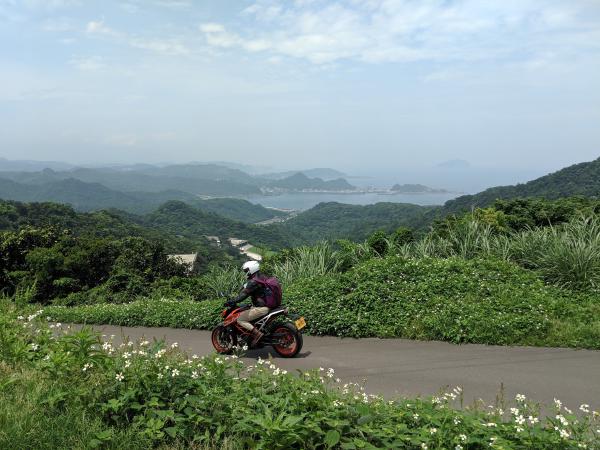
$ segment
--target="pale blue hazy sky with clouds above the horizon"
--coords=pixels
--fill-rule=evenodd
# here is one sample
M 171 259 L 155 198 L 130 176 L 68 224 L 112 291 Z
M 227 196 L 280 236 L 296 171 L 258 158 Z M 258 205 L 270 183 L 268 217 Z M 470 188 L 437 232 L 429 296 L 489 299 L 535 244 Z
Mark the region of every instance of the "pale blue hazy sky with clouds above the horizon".
M 599 156 L 599 0 L 0 0 L 0 157 L 549 171 Z

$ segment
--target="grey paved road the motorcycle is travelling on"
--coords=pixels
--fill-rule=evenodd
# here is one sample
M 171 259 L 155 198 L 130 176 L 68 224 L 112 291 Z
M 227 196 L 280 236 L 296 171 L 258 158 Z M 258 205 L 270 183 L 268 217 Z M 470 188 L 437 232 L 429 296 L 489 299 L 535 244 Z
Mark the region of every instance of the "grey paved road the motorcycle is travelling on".
M 213 351 L 208 331 L 174 328 L 96 326 L 115 340 L 164 338 L 191 354 Z M 268 358 L 267 348 L 246 358 Z M 600 408 L 600 351 L 560 348 L 453 345 L 405 339 L 340 339 L 304 336 L 304 348 L 294 359 L 277 357 L 288 369 L 335 369 L 342 380 L 365 381 L 367 391 L 386 397 L 435 394 L 462 386 L 465 400 L 491 403 L 504 387 L 505 397 L 525 394 L 541 403 L 559 398 L 572 409 L 582 403 Z

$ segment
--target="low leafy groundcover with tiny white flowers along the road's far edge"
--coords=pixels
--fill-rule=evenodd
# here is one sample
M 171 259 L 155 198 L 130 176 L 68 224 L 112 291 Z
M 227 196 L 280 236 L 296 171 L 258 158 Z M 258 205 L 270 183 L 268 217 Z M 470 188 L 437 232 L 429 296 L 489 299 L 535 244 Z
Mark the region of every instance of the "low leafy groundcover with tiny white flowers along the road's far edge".
M 546 286 L 495 260 L 374 258 L 285 287 L 312 334 L 600 348 L 598 296 Z M 221 301 L 140 300 L 46 308 L 55 320 L 210 329 Z

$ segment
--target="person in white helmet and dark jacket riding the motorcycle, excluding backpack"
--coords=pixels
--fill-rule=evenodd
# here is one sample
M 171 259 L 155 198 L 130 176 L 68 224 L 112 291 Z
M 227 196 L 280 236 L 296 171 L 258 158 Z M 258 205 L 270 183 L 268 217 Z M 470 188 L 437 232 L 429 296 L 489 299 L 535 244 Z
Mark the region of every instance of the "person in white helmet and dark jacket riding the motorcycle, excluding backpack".
M 239 295 L 235 299 L 227 302 L 227 304 L 228 306 L 234 306 L 248 297 L 252 299 L 252 307 L 239 315 L 237 323 L 250 331 L 252 336 L 250 345 L 256 345 L 263 336 L 263 333 L 252 325 L 251 321 L 266 316 L 269 313 L 269 307 L 265 304 L 264 286 L 255 281 L 256 279 L 263 277 L 260 273 L 260 264 L 258 261 L 246 261 L 242 266 L 242 270 L 246 273 L 248 281 L 244 283 Z

